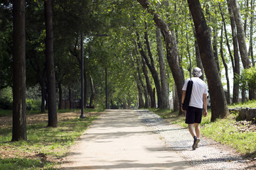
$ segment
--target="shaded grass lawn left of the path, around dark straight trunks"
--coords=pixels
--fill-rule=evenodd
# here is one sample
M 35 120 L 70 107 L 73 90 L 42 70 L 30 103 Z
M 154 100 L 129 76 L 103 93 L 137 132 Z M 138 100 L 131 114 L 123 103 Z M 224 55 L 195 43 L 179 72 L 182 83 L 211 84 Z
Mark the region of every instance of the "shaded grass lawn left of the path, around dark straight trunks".
M 68 147 L 82 135 L 99 112 L 85 109 L 86 118 L 75 116 L 58 120 L 58 128 L 46 128 L 46 121 L 27 125 L 27 141 L 11 142 L 11 125 L 0 129 L 0 169 L 56 169 Z M 58 115 L 67 111 L 60 111 Z M 6 115 L 6 114 L 4 114 Z M 8 115 L 8 114 L 7 114 Z M 38 115 L 38 114 L 37 114 Z

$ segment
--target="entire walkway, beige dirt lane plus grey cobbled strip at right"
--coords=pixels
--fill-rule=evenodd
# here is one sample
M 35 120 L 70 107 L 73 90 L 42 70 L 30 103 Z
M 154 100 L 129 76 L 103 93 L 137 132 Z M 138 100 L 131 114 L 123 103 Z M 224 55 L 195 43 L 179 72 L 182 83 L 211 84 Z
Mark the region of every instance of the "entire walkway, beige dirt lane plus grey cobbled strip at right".
M 245 169 L 246 161 L 147 110 L 107 110 L 70 148 L 63 169 Z

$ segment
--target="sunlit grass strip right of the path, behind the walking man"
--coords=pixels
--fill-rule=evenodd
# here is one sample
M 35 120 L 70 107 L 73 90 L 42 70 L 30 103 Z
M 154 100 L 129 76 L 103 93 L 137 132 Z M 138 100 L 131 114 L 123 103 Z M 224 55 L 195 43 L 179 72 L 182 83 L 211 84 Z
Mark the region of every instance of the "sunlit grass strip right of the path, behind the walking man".
M 232 106 L 233 108 L 241 107 L 255 107 L 256 102 L 250 101 L 249 103 L 238 104 Z M 187 127 L 185 117 L 178 116 L 178 113 L 171 111 L 151 109 L 154 113 L 168 120 L 171 123 Z M 241 154 L 247 157 L 256 157 L 256 125 L 250 121 L 237 121 L 235 120 L 238 115 L 231 113 L 228 118 L 218 119 L 214 123 L 210 122 L 211 113 L 208 111 L 208 117 L 202 119 L 201 134 L 209 137 L 215 141 L 230 145 Z

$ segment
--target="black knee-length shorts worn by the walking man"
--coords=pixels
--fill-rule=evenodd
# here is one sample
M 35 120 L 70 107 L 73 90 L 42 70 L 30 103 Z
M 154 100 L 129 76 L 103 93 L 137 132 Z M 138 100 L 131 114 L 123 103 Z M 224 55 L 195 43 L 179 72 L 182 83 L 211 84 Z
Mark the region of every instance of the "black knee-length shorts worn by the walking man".
M 186 124 L 201 123 L 203 108 L 188 106 L 186 111 Z

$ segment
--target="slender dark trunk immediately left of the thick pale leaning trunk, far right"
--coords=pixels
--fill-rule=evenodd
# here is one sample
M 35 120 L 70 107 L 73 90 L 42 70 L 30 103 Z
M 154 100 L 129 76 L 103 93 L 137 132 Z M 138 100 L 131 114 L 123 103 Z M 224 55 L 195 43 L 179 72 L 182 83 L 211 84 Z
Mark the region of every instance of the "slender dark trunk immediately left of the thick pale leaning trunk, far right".
M 230 1 L 230 0 L 228 0 Z M 232 38 L 233 38 L 233 49 L 234 49 L 234 63 L 233 63 L 233 103 L 239 103 L 239 84 L 235 82 L 238 81 L 238 77 L 240 75 L 240 58 L 238 53 L 238 36 L 237 36 L 237 29 L 235 26 L 235 18 L 233 17 L 233 10 L 230 3 L 228 3 L 228 12 L 230 14 L 230 23 L 231 23 L 231 31 L 232 31 Z

